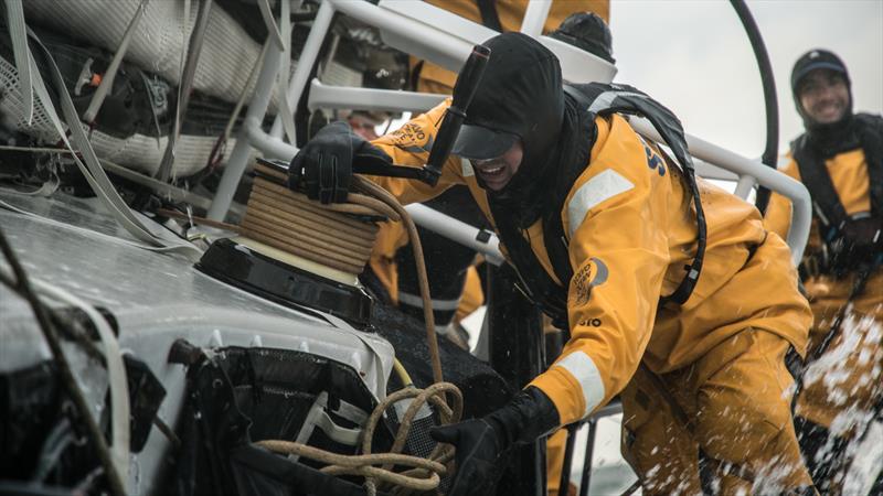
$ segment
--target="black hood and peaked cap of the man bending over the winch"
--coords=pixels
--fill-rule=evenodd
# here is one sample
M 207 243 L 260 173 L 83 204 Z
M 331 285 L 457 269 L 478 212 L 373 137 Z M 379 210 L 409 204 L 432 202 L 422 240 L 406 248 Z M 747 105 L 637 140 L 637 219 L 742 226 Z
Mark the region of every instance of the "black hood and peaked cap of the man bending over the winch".
M 552 52 L 522 33 L 503 33 L 485 45 L 491 55 L 466 123 L 521 139 L 524 154 L 518 172 L 506 187 L 488 195 L 525 226 L 539 218 L 540 194 L 554 181 L 550 172 L 564 116 L 561 66 Z

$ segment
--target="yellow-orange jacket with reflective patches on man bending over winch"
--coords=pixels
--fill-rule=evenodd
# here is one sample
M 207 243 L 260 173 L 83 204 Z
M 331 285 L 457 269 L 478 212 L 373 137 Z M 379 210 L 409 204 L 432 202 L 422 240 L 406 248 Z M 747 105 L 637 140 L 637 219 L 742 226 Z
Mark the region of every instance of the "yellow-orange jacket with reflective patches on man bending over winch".
M 448 105 L 373 144 L 397 164 L 423 165 Z M 787 246 L 766 233 L 753 205 L 701 180 L 709 228 L 704 268 L 683 305 L 658 309 L 660 295 L 674 291 L 695 250 L 689 191 L 677 168 L 661 161 L 623 117 L 598 117 L 596 126 L 589 164 L 561 212 L 574 271 L 567 299 L 571 339 L 555 364 L 531 382 L 555 403 L 562 424 L 607 403 L 641 359 L 659 374 L 675 370 L 747 327 L 779 335 L 802 355 L 811 316 L 796 290 Z M 470 163 L 457 157 L 445 163 L 436 186 L 372 180 L 403 203 L 466 184 L 496 225 Z M 541 223 L 524 235 L 555 279 Z M 748 265 L 760 245 L 767 257 L 763 268 Z

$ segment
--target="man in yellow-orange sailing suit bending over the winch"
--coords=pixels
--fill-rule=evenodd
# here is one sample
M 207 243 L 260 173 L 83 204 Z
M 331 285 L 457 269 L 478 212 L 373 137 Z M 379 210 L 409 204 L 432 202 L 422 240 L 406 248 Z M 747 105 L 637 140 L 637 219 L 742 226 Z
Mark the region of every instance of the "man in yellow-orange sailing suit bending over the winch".
M 682 287 L 684 267 L 696 269 L 683 174 L 626 119 L 593 118 L 565 94 L 557 58 L 535 40 L 504 33 L 486 45 L 490 62 L 438 184 L 372 179 L 403 203 L 469 186 L 526 290 L 568 322 L 571 336 L 510 405 L 433 431 L 457 446 L 449 494 L 485 494 L 509 446 L 585 419 L 616 395 L 624 453 L 646 494 L 699 493 L 700 453 L 724 494 L 815 494 L 784 362 L 789 347 L 805 353 L 811 314 L 785 242 L 752 205 L 700 182 L 704 267 L 687 301 L 660 305 Z M 372 143 L 343 126 L 323 129 L 292 160 L 291 184 L 341 201 L 353 160 L 419 166 L 448 105 Z M 551 225 L 561 238 L 545 237 Z M 562 262 L 568 281 L 556 276 Z

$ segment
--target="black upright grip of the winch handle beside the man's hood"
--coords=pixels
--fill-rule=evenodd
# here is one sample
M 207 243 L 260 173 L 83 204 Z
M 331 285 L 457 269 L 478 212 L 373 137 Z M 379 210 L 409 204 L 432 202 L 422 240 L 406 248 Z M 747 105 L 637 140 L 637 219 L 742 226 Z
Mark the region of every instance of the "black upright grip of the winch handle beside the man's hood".
M 442 166 L 448 160 L 450 149 L 454 147 L 454 140 L 457 139 L 457 134 L 460 132 L 460 126 L 466 119 L 466 110 L 469 108 L 472 97 L 476 96 L 489 58 L 490 48 L 485 45 L 475 45 L 472 53 L 469 54 L 469 58 L 466 60 L 466 64 L 464 64 L 459 76 L 457 76 L 457 83 L 454 85 L 454 99 L 445 112 L 435 144 L 433 144 L 433 150 L 429 152 L 429 160 L 426 161 L 424 166 L 426 174 L 423 181 L 429 185 L 434 186 L 442 175 Z

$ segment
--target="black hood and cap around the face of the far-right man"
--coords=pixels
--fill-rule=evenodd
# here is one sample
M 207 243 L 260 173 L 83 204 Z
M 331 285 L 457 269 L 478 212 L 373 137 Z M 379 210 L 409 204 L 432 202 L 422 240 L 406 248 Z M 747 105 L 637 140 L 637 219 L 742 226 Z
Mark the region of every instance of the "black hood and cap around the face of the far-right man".
M 804 109 L 800 104 L 800 90 L 802 89 L 802 82 L 809 73 L 817 69 L 828 69 L 839 73 L 847 82 L 847 89 L 849 89 L 849 104 L 847 110 L 843 112 L 843 118 L 837 122 L 819 123 L 816 122 Z M 837 142 L 841 141 L 844 133 L 849 133 L 849 128 L 852 123 L 852 84 L 849 79 L 849 72 L 845 64 L 836 54 L 827 50 L 816 48 L 810 50 L 797 60 L 791 69 L 791 96 L 794 97 L 797 114 L 804 120 L 804 127 L 810 136 L 815 139 L 822 141 Z

